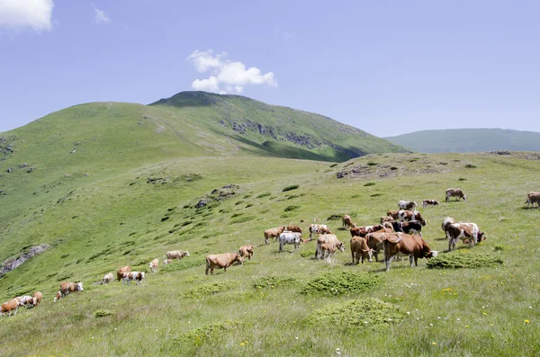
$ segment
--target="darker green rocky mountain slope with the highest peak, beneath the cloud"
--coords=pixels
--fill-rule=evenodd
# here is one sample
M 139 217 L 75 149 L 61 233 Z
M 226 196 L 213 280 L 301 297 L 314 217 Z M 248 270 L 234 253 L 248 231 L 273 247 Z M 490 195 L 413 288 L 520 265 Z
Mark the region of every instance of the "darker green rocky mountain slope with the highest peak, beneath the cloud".
M 328 117 L 240 95 L 182 92 L 150 105 L 277 156 L 346 161 L 370 153 L 408 151 Z

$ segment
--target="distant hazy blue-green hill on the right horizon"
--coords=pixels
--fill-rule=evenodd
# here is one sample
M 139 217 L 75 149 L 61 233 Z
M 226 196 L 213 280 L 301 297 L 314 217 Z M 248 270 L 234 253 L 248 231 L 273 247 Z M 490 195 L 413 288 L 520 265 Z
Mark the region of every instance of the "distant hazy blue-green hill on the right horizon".
M 511 129 L 422 130 L 385 139 L 422 153 L 540 151 L 540 133 Z

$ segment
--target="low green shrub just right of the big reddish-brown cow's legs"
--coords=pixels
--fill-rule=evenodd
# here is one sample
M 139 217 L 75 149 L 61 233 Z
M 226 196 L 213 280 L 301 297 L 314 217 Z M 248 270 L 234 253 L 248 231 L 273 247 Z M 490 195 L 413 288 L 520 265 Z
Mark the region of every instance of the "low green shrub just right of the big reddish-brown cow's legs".
M 488 254 L 478 253 L 452 253 L 440 254 L 435 258 L 428 259 L 428 269 L 458 269 L 480 268 L 502 264 L 502 259 Z

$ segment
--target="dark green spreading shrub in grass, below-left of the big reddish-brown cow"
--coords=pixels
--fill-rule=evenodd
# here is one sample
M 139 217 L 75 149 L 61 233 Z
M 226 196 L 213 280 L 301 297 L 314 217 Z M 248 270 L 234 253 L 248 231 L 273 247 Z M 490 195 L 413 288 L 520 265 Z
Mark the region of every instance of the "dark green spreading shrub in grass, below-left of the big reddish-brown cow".
M 379 275 L 365 272 L 325 272 L 311 280 L 300 291 L 306 295 L 344 295 L 372 290 L 383 282 Z

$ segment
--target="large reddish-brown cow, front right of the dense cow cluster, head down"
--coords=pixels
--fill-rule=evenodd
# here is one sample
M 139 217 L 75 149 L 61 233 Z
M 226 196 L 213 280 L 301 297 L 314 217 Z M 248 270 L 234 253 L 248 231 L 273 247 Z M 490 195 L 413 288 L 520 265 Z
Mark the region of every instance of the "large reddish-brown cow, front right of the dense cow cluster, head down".
M 390 263 L 394 256 L 398 254 L 409 255 L 410 266 L 414 260 L 414 265 L 419 266 L 419 258 L 431 258 L 437 256 L 437 251 L 431 250 L 424 238 L 414 235 L 396 233 L 396 236 L 386 237 L 383 241 L 384 263 L 386 272 L 390 270 Z

